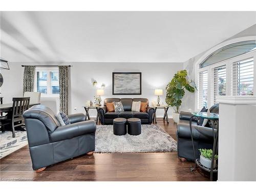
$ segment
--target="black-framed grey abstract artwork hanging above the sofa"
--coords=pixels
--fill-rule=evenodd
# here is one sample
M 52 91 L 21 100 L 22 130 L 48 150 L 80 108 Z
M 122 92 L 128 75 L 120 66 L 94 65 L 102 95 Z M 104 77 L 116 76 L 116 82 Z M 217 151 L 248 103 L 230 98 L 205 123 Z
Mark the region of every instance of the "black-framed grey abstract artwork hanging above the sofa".
M 141 95 L 141 73 L 113 72 L 113 95 Z

